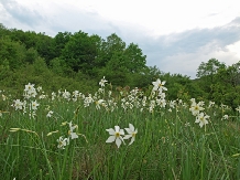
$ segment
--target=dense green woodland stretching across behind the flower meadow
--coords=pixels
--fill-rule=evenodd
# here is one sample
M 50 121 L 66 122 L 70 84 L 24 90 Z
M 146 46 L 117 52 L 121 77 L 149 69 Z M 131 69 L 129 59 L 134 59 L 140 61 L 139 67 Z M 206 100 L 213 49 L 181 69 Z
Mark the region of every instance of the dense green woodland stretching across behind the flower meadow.
M 45 33 L 8 29 L 0 24 L 0 89 L 21 97 L 28 83 L 45 92 L 91 93 L 102 76 L 109 88 L 151 91 L 156 78 L 166 81 L 167 98 L 214 100 L 234 109 L 240 105 L 240 61 L 227 66 L 216 59 L 199 64 L 197 80 L 146 66 L 138 44 L 126 44 L 116 33 L 106 39 L 78 31 Z

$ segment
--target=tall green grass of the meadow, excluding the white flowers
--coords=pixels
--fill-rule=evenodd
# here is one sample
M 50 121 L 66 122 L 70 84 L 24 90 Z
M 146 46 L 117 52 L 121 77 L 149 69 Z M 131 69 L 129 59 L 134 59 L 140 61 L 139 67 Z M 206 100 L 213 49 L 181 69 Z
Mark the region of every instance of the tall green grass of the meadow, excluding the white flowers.
M 117 105 L 111 112 L 112 106 L 108 106 L 109 110 L 102 105 L 97 109 L 95 102 L 85 107 L 83 97 L 68 102 L 61 95 L 51 100 L 50 95 L 44 99 L 32 97 L 40 106 L 35 118 L 30 118 L 29 113 L 11 106 L 14 97 L 4 95 L 9 98 L 0 102 L 1 179 L 240 179 L 237 155 L 240 153 L 240 117 L 234 112 L 231 114 L 236 116 L 222 120 L 221 108 L 204 106 L 210 119 L 200 128 L 189 112 L 189 102 L 187 106 L 177 104 L 172 112 L 168 104 L 165 108 L 156 105 L 150 113 L 150 99 L 141 110 L 139 94 L 132 95 L 137 97 L 135 104 L 127 110 L 121 107 L 123 97 L 116 96 Z M 97 96 L 97 99 L 112 99 L 107 92 Z M 130 102 L 127 96 L 126 99 Z M 54 114 L 46 117 L 50 109 Z M 59 149 L 56 140 L 68 137 L 68 124 L 62 124 L 66 121 L 77 125 L 76 131 L 83 136 Z M 118 148 L 114 142 L 106 142 L 109 137 L 106 129 L 116 125 L 123 129 L 129 124 L 138 128 L 132 145 L 124 140 L 126 145 Z M 10 131 L 11 128 L 20 130 Z M 47 136 L 48 133 L 53 134 Z

